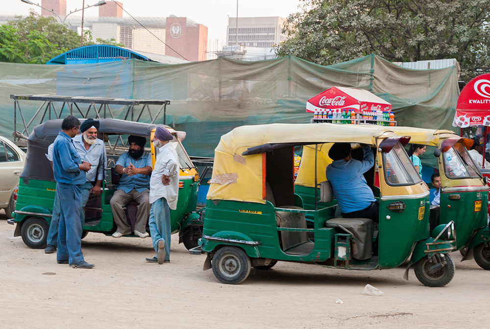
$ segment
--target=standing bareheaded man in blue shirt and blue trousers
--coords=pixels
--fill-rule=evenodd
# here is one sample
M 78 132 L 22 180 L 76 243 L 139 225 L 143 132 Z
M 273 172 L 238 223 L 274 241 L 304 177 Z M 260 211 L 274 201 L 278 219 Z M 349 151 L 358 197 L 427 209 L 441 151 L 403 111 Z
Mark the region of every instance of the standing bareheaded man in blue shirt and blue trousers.
M 80 121 L 73 115 L 61 124 L 61 131 L 53 145 L 53 174 L 56 180 L 55 204 L 60 207 L 58 227 L 58 264 L 70 264 L 74 268 L 92 268 L 83 259 L 81 251 L 82 198 L 80 185 L 86 181 L 85 173 L 90 163 L 82 161 L 73 146 L 72 138 L 78 133 Z

